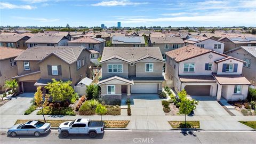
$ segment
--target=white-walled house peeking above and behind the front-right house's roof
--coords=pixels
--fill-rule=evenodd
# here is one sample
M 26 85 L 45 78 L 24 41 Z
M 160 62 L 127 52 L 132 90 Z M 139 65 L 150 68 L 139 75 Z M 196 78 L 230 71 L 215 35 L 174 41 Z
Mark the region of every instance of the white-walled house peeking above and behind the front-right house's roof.
M 213 39 L 211 37 L 195 36 L 193 38 L 186 39 L 184 42 L 185 42 L 185 45 L 195 45 L 195 46 L 213 50 L 219 53 L 224 53 L 225 43 L 218 41 L 216 39 Z

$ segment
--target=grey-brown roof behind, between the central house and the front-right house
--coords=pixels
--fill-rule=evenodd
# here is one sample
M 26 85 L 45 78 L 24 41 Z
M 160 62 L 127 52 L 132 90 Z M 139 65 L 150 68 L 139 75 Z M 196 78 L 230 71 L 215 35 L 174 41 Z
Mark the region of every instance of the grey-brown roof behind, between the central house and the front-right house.
M 181 37 L 151 37 L 152 44 L 184 44 Z

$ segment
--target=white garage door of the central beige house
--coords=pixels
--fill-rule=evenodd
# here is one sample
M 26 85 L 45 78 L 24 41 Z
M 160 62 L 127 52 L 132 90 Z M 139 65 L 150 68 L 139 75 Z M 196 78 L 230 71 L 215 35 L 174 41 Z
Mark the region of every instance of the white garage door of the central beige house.
M 131 93 L 157 93 L 157 84 L 134 84 Z

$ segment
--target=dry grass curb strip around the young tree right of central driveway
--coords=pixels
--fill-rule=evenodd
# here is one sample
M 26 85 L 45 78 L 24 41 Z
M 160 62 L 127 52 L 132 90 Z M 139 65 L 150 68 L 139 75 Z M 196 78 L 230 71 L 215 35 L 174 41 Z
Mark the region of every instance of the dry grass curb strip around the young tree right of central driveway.
M 185 128 L 185 121 L 169 121 L 170 125 L 174 129 Z M 187 121 L 187 128 L 199 129 L 199 121 Z

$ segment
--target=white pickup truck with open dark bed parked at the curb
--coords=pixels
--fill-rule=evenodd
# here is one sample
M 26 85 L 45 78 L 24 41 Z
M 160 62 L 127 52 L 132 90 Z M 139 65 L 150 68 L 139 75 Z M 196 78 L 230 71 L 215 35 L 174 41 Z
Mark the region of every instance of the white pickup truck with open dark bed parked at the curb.
M 78 118 L 75 121 L 61 123 L 59 133 L 66 138 L 69 134 L 89 134 L 91 138 L 104 132 L 104 123 L 100 121 L 90 121 L 89 118 Z

